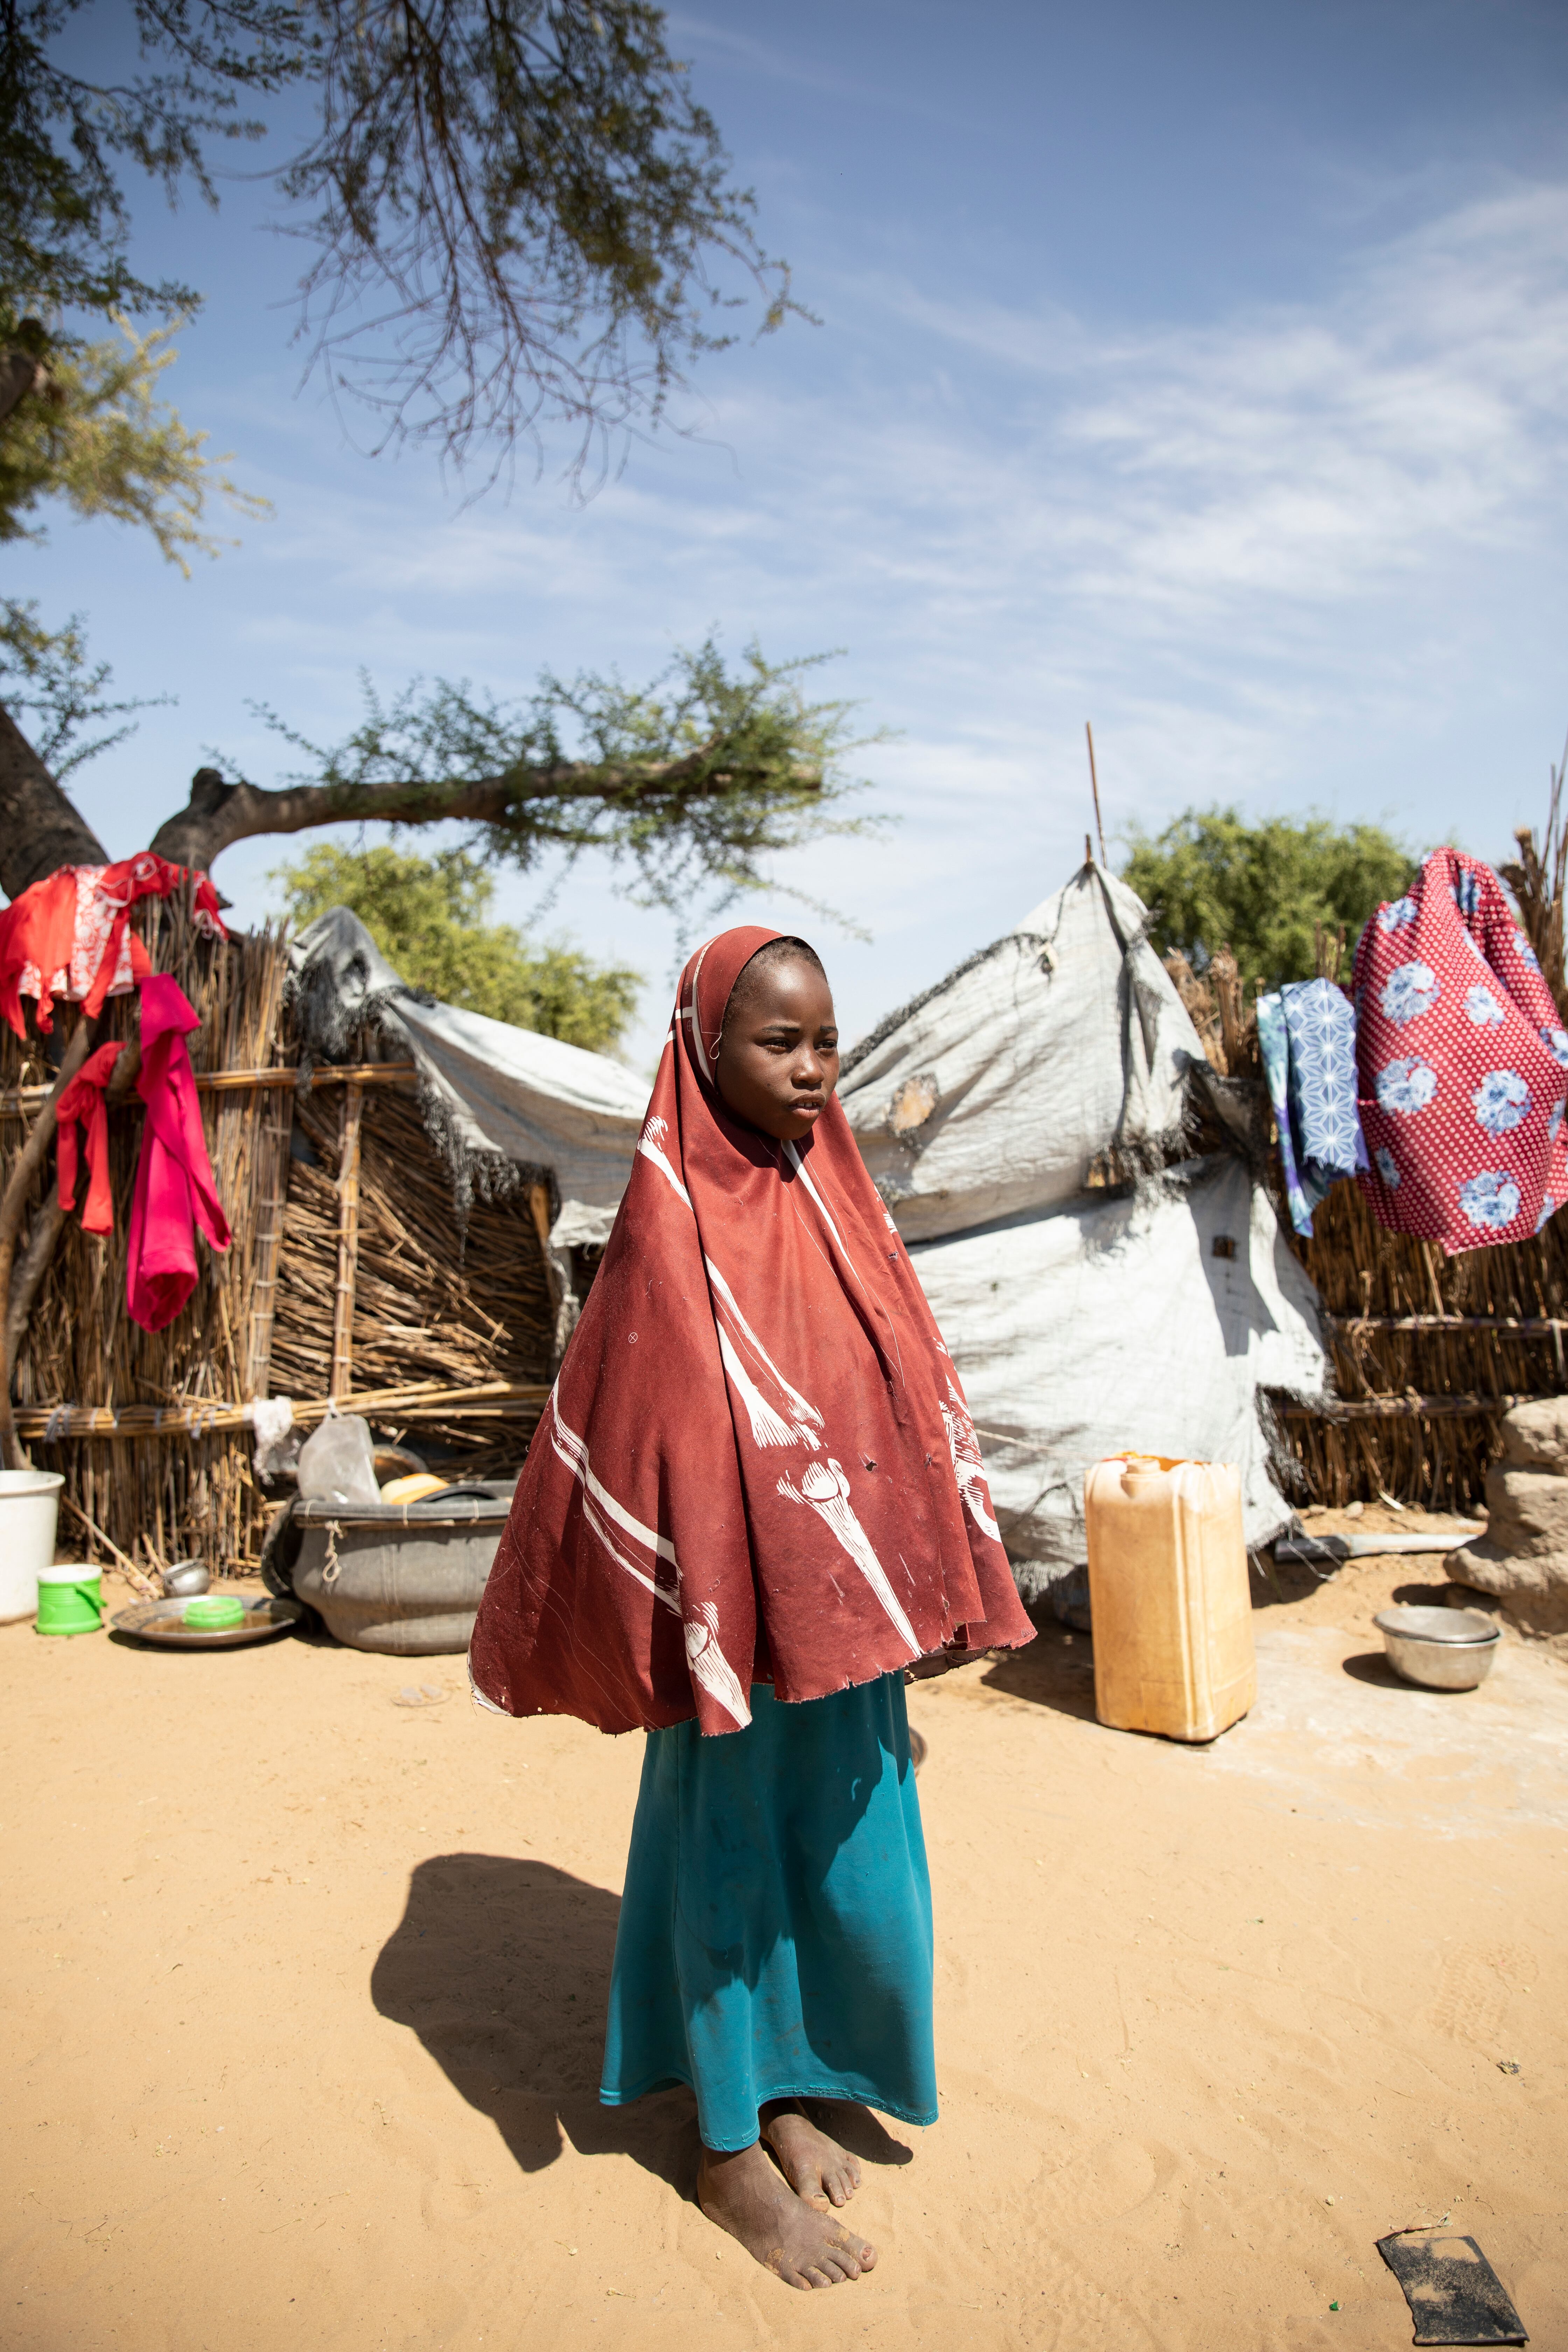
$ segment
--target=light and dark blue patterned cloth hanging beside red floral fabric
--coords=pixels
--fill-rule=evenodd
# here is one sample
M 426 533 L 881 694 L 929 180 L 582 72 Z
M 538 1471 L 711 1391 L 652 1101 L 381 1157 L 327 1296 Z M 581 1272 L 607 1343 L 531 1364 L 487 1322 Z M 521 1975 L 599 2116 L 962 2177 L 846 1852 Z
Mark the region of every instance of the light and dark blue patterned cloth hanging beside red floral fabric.
M 1415 997 L 1425 964 L 1406 971 L 1410 978 L 1399 1009 L 1387 1007 L 1392 1018 L 1408 1018 L 1406 1004 L 1420 1009 Z M 1258 1044 L 1291 1223 L 1312 1237 L 1312 1211 L 1328 1188 L 1368 1164 L 1356 1112 L 1356 1016 L 1333 981 L 1288 981 L 1276 995 L 1258 997 Z

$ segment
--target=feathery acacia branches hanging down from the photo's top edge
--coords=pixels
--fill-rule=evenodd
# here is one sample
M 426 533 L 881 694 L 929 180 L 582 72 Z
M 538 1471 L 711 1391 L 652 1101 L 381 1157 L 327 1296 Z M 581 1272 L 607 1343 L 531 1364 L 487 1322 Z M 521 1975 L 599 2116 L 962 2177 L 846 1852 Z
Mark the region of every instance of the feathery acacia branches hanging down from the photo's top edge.
M 132 0 L 115 78 L 61 42 L 82 7 L 0 0 L 0 419 L 80 350 L 71 313 L 197 306 L 132 270 L 125 167 L 216 205 L 212 143 L 261 139 L 292 87 L 310 127 L 270 176 L 301 332 L 378 442 L 494 466 L 569 421 L 585 463 L 731 341 L 724 310 L 795 308 L 646 0 Z

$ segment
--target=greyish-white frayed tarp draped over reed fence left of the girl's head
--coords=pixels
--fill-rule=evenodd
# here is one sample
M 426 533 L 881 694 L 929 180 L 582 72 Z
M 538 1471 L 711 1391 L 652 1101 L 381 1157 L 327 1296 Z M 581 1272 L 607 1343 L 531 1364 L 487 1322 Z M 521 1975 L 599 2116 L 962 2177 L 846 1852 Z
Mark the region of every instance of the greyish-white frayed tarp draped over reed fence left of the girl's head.
M 548 1169 L 557 1247 L 609 1235 L 642 1134 L 646 1080 L 607 1054 L 421 1000 L 343 906 L 301 931 L 292 957 L 317 1028 L 348 1033 L 374 1018 L 386 1042 L 407 1047 L 425 1117 L 435 1110 L 454 1157 Z

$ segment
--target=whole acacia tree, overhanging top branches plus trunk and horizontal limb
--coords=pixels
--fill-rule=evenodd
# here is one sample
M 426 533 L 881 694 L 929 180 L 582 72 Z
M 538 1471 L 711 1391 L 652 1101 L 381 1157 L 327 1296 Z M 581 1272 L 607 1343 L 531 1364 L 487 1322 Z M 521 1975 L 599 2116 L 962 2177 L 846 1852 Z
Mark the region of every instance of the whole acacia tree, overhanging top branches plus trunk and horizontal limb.
M 374 447 L 430 440 L 484 485 L 567 426 L 581 485 L 731 339 L 736 303 L 762 299 L 762 332 L 795 308 L 646 0 L 132 0 L 141 56 L 118 78 L 71 49 L 82 5 L 0 0 L 0 539 L 63 496 L 148 527 L 176 562 L 212 548 L 207 501 L 240 494 L 158 397 L 162 336 L 200 296 L 132 270 L 127 172 L 216 202 L 214 141 L 259 139 L 289 89 L 310 125 L 273 176 L 301 240 L 301 332 Z M 73 652 L 80 699 L 80 630 L 5 609 L 9 896 L 103 858 L 16 724 L 40 666 Z M 757 880 L 842 790 L 842 710 L 806 703 L 797 673 L 752 654 L 731 675 L 703 647 L 642 691 L 581 677 L 520 708 L 451 682 L 369 696 L 343 746 L 299 746 L 280 790 L 200 769 L 150 847 L 212 866 L 259 833 L 458 818 L 477 854 L 599 847 L 677 903 L 693 875 Z

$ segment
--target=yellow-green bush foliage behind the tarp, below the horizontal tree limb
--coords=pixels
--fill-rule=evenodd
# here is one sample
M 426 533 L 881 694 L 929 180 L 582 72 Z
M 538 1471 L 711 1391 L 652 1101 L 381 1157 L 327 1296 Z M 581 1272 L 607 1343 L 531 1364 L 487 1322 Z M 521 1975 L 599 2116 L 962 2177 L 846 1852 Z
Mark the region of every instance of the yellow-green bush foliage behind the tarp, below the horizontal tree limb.
M 639 971 L 595 964 L 564 941 L 529 948 L 510 924 L 487 922 L 496 884 L 470 849 L 421 858 L 386 842 L 317 842 L 270 880 L 301 927 L 327 908 L 350 908 L 404 981 L 447 1004 L 592 1054 L 611 1054 L 637 1011 Z

